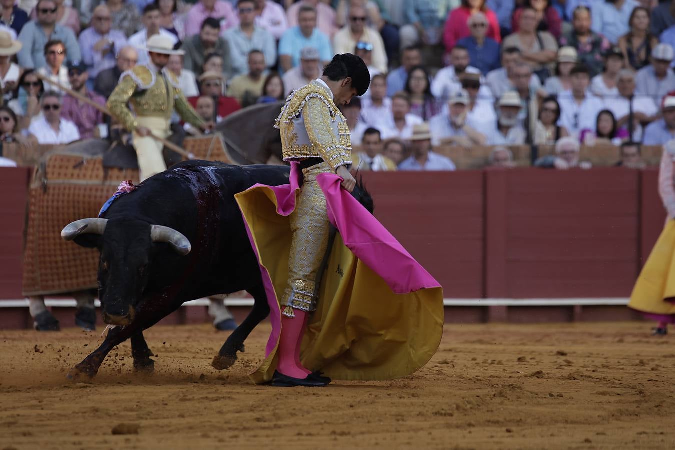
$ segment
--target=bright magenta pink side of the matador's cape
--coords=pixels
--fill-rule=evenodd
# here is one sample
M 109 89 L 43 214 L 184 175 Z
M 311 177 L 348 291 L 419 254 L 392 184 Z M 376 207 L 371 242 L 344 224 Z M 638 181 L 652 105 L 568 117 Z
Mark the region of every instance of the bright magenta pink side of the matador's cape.
M 277 214 L 288 217 L 295 209 L 296 192 L 300 189 L 300 164 L 291 163 L 290 184 L 267 186 L 255 184 L 245 192 L 257 188 L 266 188 L 273 192 L 277 200 Z M 405 294 L 420 289 L 441 287 L 429 272 L 419 264 L 406 249 L 391 235 L 375 216 L 352 197 L 340 184 L 342 178 L 333 173 L 317 175 L 317 182 L 326 198 L 326 210 L 331 225 L 338 229 L 342 242 L 354 256 L 375 274 L 377 274 L 397 294 Z M 274 291 L 272 279 L 261 263 L 260 254 L 253 240 L 250 227 L 242 211 L 246 234 L 260 266 L 263 287 L 267 295 L 272 331 L 265 345 L 265 358 L 274 351 L 281 333 L 281 310 Z

